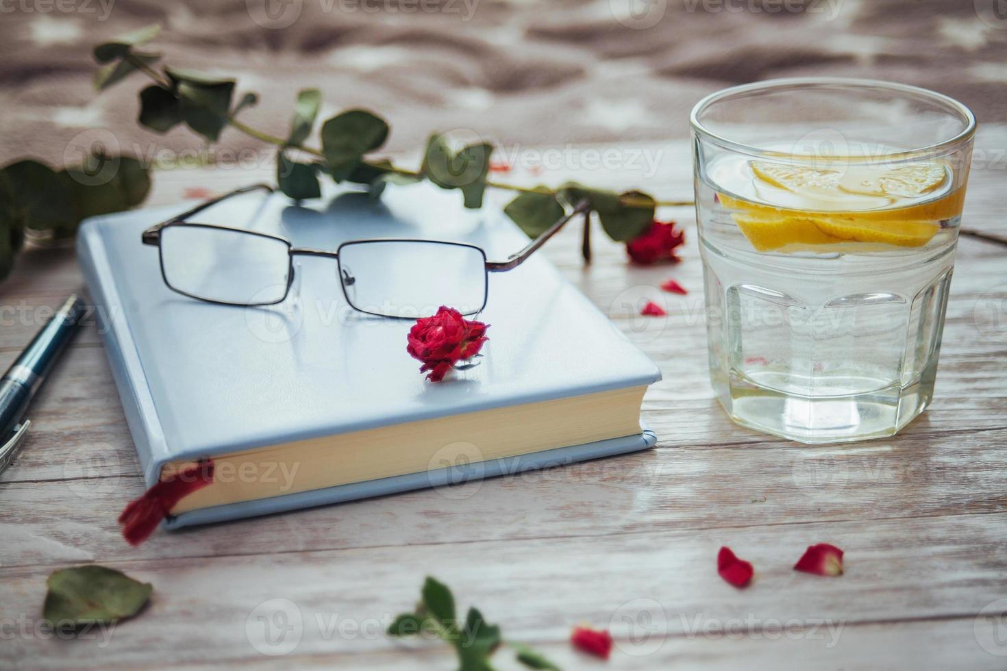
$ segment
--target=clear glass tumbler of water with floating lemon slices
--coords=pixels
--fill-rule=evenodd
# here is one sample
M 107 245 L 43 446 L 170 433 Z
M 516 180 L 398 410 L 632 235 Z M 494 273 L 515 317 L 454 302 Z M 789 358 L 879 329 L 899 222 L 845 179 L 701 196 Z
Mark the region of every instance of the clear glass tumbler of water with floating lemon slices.
M 721 91 L 691 122 L 720 402 L 802 443 L 895 434 L 933 395 L 975 117 L 817 77 Z

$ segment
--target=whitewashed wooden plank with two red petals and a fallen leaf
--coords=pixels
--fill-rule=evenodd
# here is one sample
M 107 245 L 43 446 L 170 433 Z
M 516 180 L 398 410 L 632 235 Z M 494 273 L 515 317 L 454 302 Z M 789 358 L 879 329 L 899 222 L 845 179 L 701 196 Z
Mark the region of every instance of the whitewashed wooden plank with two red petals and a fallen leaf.
M 1007 514 L 1001 513 L 121 560 L 112 565 L 152 582 L 155 593 L 142 617 L 112 631 L 110 647 L 97 641 L 78 646 L 67 659 L 65 646 L 23 637 L 5 642 L 0 659 L 30 660 L 33 666 L 132 666 L 151 663 L 152 650 L 170 651 L 177 663 L 255 658 L 260 653 L 247 628 L 256 627 L 259 616 L 271 619 L 278 610 L 272 600 L 278 599 L 293 604 L 281 610 L 301 616 L 299 655 L 394 651 L 400 644 L 386 638 L 383 627 L 414 605 L 426 572 L 450 583 L 459 608 L 477 602 L 514 640 L 533 643 L 560 644 L 583 621 L 609 626 L 621 638 L 622 617 L 640 607 L 659 612 L 667 634 L 679 638 L 706 623 L 730 631 L 727 623 L 738 620 L 750 621 L 753 632 L 767 632 L 787 621 L 846 627 L 969 619 L 1007 586 L 1005 533 Z M 823 540 L 846 548 L 846 574 L 824 578 L 794 571 L 805 546 Z M 747 590 L 739 592 L 716 574 L 721 544 L 755 565 Z M 0 569 L 5 614 L 37 619 L 46 572 L 34 566 Z M 339 636 L 331 628 L 339 621 L 359 628 Z

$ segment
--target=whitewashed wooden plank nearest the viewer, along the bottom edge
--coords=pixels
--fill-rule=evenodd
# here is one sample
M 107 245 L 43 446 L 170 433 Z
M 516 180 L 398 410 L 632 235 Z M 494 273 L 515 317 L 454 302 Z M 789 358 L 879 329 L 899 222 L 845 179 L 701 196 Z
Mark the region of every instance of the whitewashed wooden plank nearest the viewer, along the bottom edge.
M 704 622 L 704 621 L 701 621 Z M 705 624 L 705 622 L 704 622 Z M 535 648 L 564 669 L 691 669 L 737 671 L 774 669 L 777 671 L 823 671 L 835 669 L 917 669 L 946 671 L 952 668 L 1000 670 L 1002 646 L 991 643 L 992 623 L 985 619 L 938 620 L 923 622 L 846 625 L 832 632 L 825 626 L 801 629 L 781 628 L 778 632 L 752 632 L 737 618 L 729 623 L 729 632 L 700 631 L 695 635 L 648 636 L 640 626 L 634 644 L 617 641 L 611 659 L 601 662 L 572 649 L 564 643 L 537 643 Z M 652 626 L 653 628 L 653 626 Z M 660 627 L 658 628 L 660 629 Z M 505 631 L 505 634 L 507 632 Z M 993 652 L 979 644 L 982 641 Z M 284 665 L 297 668 L 355 668 L 385 671 L 453 668 L 452 657 L 435 642 L 403 646 L 403 650 L 380 653 L 337 653 L 299 655 L 297 651 L 282 657 Z M 739 663 L 743 660 L 743 663 Z M 228 660 L 226 666 L 243 669 L 275 668 L 276 658 Z M 196 665 L 196 668 L 210 668 Z M 512 653 L 501 649 L 493 656 L 493 668 L 499 671 L 526 671 L 514 661 Z

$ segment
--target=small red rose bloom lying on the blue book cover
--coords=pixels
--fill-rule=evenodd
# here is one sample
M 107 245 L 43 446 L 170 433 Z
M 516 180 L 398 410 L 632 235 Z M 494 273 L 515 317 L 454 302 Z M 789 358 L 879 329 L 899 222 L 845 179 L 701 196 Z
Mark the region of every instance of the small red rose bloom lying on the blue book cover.
M 441 306 L 433 317 L 422 317 L 409 330 L 406 351 L 423 362 L 420 372 L 439 382 L 456 363 L 479 353 L 488 324 L 469 321 L 461 313 Z

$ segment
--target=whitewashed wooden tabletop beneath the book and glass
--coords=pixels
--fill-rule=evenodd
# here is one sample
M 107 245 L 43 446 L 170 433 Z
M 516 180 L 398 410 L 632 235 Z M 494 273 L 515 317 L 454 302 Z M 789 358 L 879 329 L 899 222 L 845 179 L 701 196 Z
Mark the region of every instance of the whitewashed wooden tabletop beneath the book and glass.
M 977 146 L 966 222 L 1002 233 L 1007 133 L 984 129 Z M 688 196 L 687 146 L 650 150 L 662 157 L 645 180 L 633 171 L 569 172 Z M 268 174 L 159 174 L 150 202 L 261 177 Z M 159 531 L 131 548 L 116 517 L 143 484 L 105 352 L 88 327 L 36 399 L 27 445 L 0 477 L 0 667 L 452 669 L 446 646 L 383 633 L 428 573 L 453 588 L 460 607 L 475 605 L 498 623 L 506 639 L 566 669 L 605 666 L 568 643 L 584 622 L 616 635 L 613 669 L 1007 666 L 1007 248 L 959 244 L 925 415 L 892 440 L 806 447 L 736 427 L 718 406 L 693 214 L 664 214 L 687 230 L 676 267 L 629 267 L 600 230 L 588 268 L 576 227 L 546 246 L 661 365 L 664 380 L 643 407 L 658 447 L 486 481 L 467 497 L 419 491 Z M 669 277 L 690 294 L 653 289 Z M 0 365 L 44 321 L 39 308 L 81 288 L 68 250 L 25 254 L 0 285 Z M 667 301 L 660 333 L 641 331 L 621 307 L 640 291 Z M 807 545 L 823 541 L 846 550 L 844 576 L 792 570 Z M 749 589 L 717 575 L 721 545 L 754 563 Z M 152 582 L 151 604 L 109 633 L 47 637 L 46 575 L 92 561 Z M 274 645 L 264 643 L 263 615 L 290 625 L 275 630 Z M 646 636 L 629 637 L 630 622 Z M 495 665 L 517 668 L 507 651 Z

